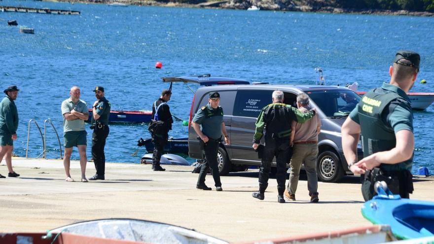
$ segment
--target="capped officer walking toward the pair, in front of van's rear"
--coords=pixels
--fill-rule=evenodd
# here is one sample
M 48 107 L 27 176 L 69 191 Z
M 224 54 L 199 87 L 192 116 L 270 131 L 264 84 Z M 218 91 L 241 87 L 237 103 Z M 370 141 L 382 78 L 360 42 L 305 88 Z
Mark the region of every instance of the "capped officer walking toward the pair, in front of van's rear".
M 202 106 L 197 111 L 192 120 L 194 131 L 204 143 L 206 158 L 204 165 L 201 167 L 196 188 L 207 191 L 211 190 L 211 187 L 205 185 L 205 176 L 211 168 L 216 190 L 222 191 L 220 174 L 217 167 L 217 150 L 222 134 L 226 144 L 229 144 L 230 141 L 223 122 L 223 109 L 219 106 L 220 94 L 218 92 L 210 93 L 208 102 L 207 105 Z

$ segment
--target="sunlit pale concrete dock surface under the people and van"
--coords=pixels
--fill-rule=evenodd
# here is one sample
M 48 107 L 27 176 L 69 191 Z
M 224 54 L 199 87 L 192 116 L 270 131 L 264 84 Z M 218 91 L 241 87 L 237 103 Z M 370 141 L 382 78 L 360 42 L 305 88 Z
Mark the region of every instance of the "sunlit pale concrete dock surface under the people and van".
M 74 152 L 76 153 L 76 152 Z M 197 190 L 192 167 L 107 163 L 106 180 L 80 182 L 79 163 L 71 162 L 66 182 L 61 160 L 13 158 L 18 178 L 0 178 L 0 231 L 41 232 L 74 222 L 101 218 L 137 218 L 195 229 L 229 242 L 263 240 L 369 226 L 361 214 L 359 177 L 340 183 L 319 182 L 317 204 L 309 203 L 301 177 L 297 201 L 277 203 L 277 184 L 270 178 L 265 200 L 252 198 L 257 170 L 222 176 L 222 192 Z M 86 176 L 95 173 L 88 162 Z M 0 166 L 0 174 L 7 168 Z M 412 199 L 434 201 L 434 177 L 415 177 Z

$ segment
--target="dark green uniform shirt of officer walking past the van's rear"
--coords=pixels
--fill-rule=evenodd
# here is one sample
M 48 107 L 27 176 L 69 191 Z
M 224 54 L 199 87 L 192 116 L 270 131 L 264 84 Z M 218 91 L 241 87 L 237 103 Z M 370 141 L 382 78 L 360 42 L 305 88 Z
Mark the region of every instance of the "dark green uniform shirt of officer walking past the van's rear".
M 218 106 L 214 109 L 210 104 L 207 104 L 197 111 L 193 122 L 201 125 L 202 133 L 205 136 L 219 139 L 221 137 L 221 123 L 223 123 L 223 108 Z

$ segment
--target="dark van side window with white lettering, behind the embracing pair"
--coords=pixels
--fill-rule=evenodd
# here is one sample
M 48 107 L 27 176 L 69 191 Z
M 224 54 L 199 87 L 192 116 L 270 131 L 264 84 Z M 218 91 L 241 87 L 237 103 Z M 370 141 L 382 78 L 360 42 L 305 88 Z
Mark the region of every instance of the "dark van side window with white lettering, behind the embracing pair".
M 238 90 L 233 115 L 257 118 L 261 109 L 272 103 L 271 94 L 272 90 Z

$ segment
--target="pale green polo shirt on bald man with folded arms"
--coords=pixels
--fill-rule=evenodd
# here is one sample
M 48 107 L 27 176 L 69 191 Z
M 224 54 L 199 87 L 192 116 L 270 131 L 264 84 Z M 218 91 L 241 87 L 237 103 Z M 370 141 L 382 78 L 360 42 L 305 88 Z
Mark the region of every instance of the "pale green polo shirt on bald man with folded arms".
M 67 120 L 65 118 L 66 113 L 71 113 L 72 109 L 79 113 L 89 114 L 87 110 L 86 102 L 83 100 L 78 100 L 76 104 L 72 102 L 72 99 L 69 98 L 62 102 L 62 115 L 63 115 L 63 133 L 69 131 L 85 131 L 84 129 L 84 120 L 82 119 L 74 119 Z

